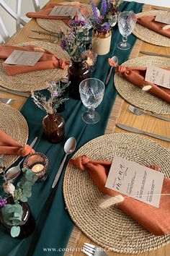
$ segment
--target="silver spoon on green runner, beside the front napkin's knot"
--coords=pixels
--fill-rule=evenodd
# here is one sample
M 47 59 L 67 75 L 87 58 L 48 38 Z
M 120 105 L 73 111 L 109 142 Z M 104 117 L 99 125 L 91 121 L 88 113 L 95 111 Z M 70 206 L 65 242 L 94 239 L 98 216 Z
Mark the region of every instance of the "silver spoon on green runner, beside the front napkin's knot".
M 58 179 L 60 178 L 61 176 L 61 171 L 63 170 L 63 165 L 66 161 L 66 158 L 69 154 L 71 154 L 76 148 L 76 139 L 74 137 L 70 137 L 65 145 L 64 145 L 64 151 L 66 153 L 65 157 L 63 158 L 63 161 L 61 163 L 61 166 L 59 167 L 58 169 L 58 173 L 55 175 L 55 178 L 54 178 L 54 181 L 53 181 L 53 185 L 52 185 L 52 189 L 55 187 L 55 185 L 57 184 L 58 182 Z

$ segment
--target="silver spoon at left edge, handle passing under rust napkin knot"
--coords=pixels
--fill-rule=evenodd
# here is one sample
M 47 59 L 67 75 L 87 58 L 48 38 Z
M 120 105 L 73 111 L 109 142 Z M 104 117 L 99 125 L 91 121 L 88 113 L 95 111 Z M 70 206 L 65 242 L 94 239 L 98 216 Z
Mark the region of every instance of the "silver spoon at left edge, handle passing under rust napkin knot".
M 34 140 L 32 140 L 30 146 L 33 147 L 35 145 L 35 142 L 37 141 L 37 137 L 35 137 Z M 6 171 L 6 179 L 7 180 L 12 180 L 12 179 L 16 179 L 17 176 L 19 176 L 20 172 L 21 172 L 21 169 L 20 169 L 20 164 L 22 163 L 22 161 L 24 160 L 24 158 L 17 164 L 17 166 L 13 166 L 11 168 L 9 168 L 7 171 Z

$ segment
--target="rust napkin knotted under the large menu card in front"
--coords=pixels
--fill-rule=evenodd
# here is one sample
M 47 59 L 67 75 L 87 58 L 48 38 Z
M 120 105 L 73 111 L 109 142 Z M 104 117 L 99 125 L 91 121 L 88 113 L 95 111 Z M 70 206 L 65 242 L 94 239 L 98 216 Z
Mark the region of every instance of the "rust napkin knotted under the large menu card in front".
M 104 187 L 112 161 L 92 161 L 83 155 L 79 158 L 71 159 L 70 163 L 73 163 L 73 165 L 75 165 L 81 171 L 88 171 L 94 183 L 104 195 L 120 195 L 120 193 Z M 147 167 L 159 171 L 158 166 Z M 161 193 L 170 193 L 170 179 L 164 178 Z M 161 236 L 170 233 L 169 195 L 161 196 L 159 208 L 148 205 L 145 202 L 135 200 L 132 197 L 125 197 L 125 200 L 120 202 L 118 207 L 154 235 Z

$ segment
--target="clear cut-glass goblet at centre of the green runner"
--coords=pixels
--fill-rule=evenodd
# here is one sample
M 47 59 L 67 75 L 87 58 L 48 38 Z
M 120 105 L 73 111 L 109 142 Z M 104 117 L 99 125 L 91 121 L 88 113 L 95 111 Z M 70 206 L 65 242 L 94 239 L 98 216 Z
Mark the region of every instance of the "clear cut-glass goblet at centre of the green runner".
M 95 108 L 102 102 L 104 96 L 104 83 L 97 78 L 88 78 L 79 85 L 80 98 L 88 111 L 82 114 L 86 124 L 96 124 L 100 115 Z

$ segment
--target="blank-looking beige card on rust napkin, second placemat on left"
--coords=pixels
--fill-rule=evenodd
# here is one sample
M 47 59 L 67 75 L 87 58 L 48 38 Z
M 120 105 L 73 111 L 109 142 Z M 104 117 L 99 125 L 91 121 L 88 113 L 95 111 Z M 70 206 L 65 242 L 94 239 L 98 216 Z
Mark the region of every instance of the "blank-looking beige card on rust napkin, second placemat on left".
M 4 61 L 5 64 L 35 66 L 44 53 L 38 51 L 12 51 L 12 54 Z

